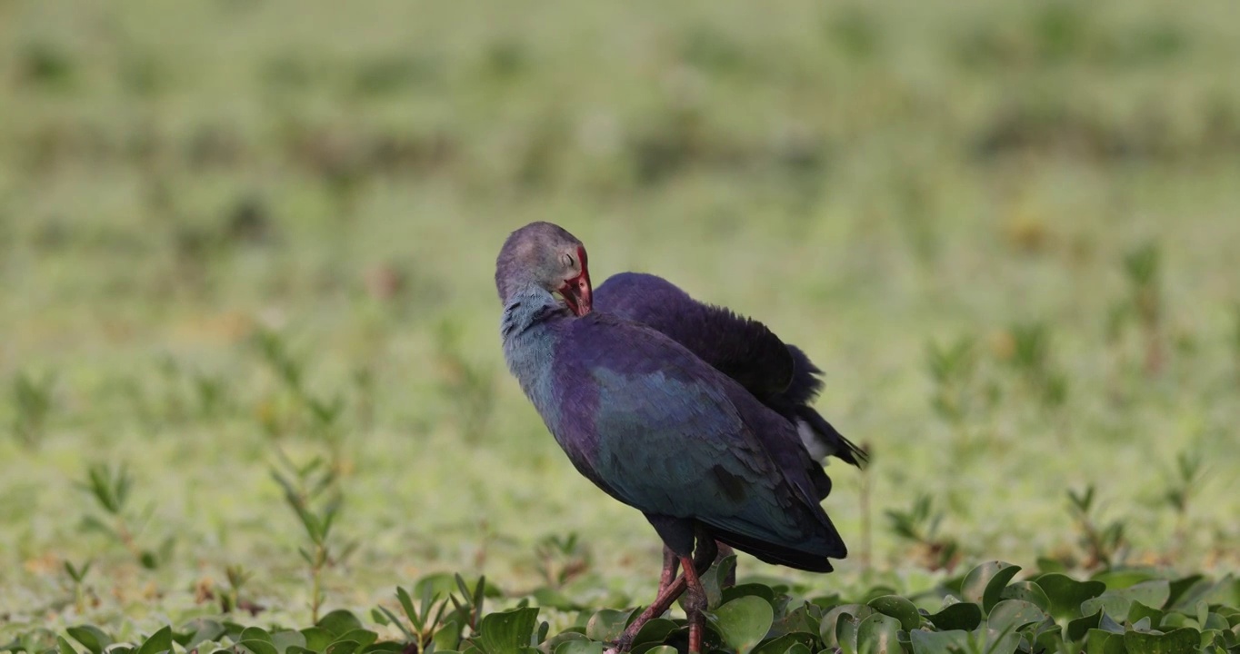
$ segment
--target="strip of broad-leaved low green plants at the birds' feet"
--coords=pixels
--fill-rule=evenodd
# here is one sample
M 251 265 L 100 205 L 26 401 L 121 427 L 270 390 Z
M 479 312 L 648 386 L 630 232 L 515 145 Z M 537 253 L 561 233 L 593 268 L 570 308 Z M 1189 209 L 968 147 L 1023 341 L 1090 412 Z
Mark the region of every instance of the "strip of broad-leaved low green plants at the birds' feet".
M 985 561 L 915 600 L 873 587 L 858 600 L 806 597 L 786 585 L 748 582 L 711 595 L 703 644 L 727 654 L 901 653 L 1114 653 L 1228 654 L 1240 650 L 1240 583 L 1233 577 L 1178 576 L 1152 569 L 1102 569 L 1078 578 Z M 455 583 L 446 598 L 440 591 Z M 376 607 L 381 637 L 347 609 L 332 611 L 301 629 L 267 623 L 243 626 L 196 618 L 155 629 L 131 642 L 81 624 L 63 632 L 30 632 L 2 647 L 40 654 L 601 654 L 636 616 L 636 608 L 591 608 L 564 624 L 556 608 L 528 597 L 503 597 L 482 611 L 489 586 L 460 575 L 425 577 L 414 591 L 397 587 L 399 612 Z M 460 593 L 464 598 L 458 598 Z M 451 607 L 451 608 L 450 608 Z M 631 652 L 683 650 L 684 618 L 649 622 Z M 74 645 L 76 643 L 76 645 Z

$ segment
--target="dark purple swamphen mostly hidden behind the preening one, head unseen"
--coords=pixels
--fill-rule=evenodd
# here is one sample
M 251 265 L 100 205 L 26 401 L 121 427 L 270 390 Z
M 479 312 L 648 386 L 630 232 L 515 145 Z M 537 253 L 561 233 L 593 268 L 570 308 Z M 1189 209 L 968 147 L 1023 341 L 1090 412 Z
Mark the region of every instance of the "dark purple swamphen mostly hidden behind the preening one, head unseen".
M 836 457 L 862 467 L 866 451 L 843 437 L 811 403 L 822 390 L 822 370 L 797 347 L 785 344 L 765 325 L 694 300 L 675 284 L 646 272 L 619 272 L 593 294 L 594 308 L 652 327 L 684 346 L 703 362 L 733 378 L 759 401 L 796 425 L 805 448 L 816 460 Z M 826 499 L 831 488 L 822 488 Z M 720 555 L 727 552 L 723 549 Z M 676 575 L 676 557 L 663 554 L 666 588 Z

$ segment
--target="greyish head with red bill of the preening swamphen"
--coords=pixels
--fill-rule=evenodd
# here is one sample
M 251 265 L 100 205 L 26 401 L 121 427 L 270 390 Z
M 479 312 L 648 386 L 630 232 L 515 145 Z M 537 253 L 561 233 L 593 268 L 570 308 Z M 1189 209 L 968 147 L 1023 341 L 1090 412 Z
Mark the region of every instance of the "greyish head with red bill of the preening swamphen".
M 559 294 L 577 316 L 589 313 L 593 289 L 585 245 L 564 228 L 544 222 L 510 234 L 495 261 L 500 301 L 507 303 L 512 294 L 528 285 Z

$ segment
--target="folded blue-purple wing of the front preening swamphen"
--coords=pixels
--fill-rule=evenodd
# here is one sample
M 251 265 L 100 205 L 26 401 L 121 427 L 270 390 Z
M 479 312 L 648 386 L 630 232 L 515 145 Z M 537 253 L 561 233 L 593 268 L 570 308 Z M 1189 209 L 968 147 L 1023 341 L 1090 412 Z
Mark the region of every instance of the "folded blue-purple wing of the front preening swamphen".
M 556 329 L 554 406 L 539 412 L 600 488 L 771 562 L 826 571 L 847 554 L 789 421 L 642 325 L 594 312 Z

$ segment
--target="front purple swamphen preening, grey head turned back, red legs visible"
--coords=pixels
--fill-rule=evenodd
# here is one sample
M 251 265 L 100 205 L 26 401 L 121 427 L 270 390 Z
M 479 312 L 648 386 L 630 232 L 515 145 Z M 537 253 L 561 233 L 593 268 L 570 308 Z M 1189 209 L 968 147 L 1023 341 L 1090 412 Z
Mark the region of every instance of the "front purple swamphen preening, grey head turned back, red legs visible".
M 577 238 L 542 222 L 513 232 L 495 281 L 505 359 L 526 396 L 578 472 L 642 512 L 684 570 L 619 649 L 687 592 L 689 650 L 701 652 L 698 575 L 715 541 L 816 572 L 847 555 L 820 505 L 830 481 L 797 427 L 672 338 L 591 311 Z

